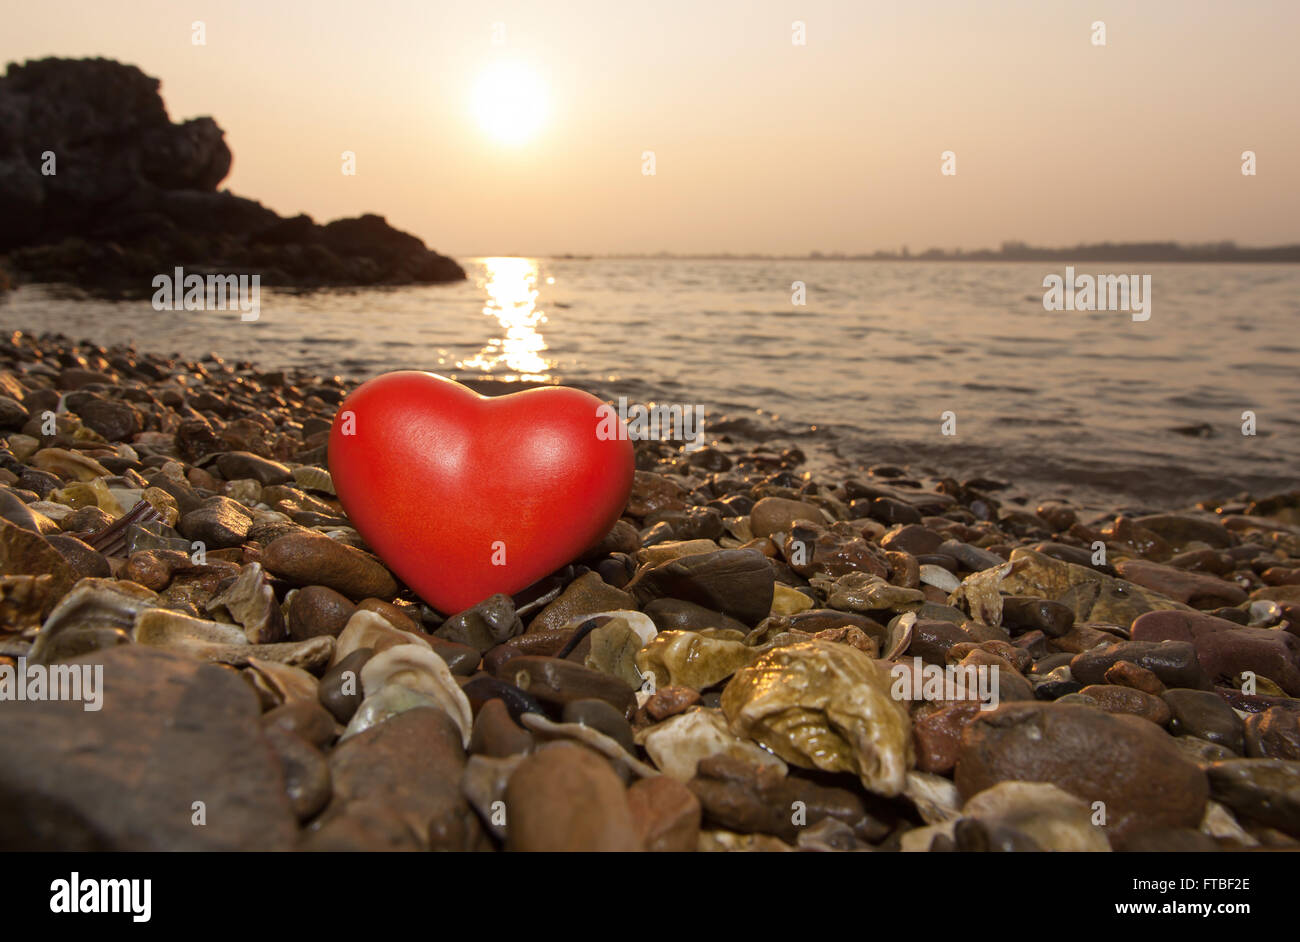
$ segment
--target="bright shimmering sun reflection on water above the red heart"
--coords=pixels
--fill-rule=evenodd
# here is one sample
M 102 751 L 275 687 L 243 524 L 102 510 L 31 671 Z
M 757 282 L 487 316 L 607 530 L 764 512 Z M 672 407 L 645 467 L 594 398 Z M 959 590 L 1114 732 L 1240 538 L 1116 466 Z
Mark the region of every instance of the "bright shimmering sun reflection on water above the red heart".
M 458 369 L 482 370 L 500 379 L 545 381 L 551 363 L 542 356 L 546 338 L 540 330 L 546 314 L 537 307 L 537 262 L 532 259 L 484 259 L 480 287 L 488 292 L 484 313 L 494 317 L 503 337 L 490 339 Z M 498 370 L 508 370 L 500 374 Z

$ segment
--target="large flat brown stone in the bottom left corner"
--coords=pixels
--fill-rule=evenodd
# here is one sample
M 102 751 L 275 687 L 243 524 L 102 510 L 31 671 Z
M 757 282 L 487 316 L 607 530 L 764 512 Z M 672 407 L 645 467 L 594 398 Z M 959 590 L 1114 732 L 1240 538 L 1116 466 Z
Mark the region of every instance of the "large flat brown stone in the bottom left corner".
M 287 850 L 298 824 L 252 689 L 233 670 L 127 644 L 103 708 L 0 702 L 0 848 Z M 207 824 L 192 822 L 203 802 Z

